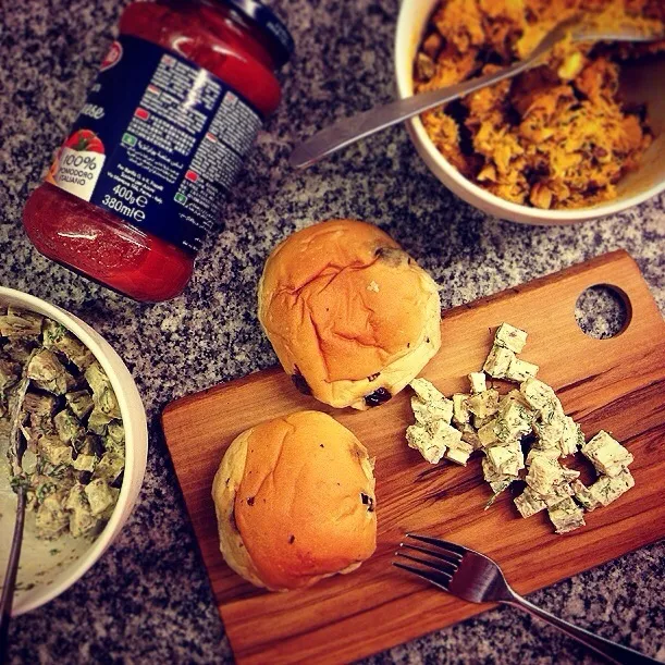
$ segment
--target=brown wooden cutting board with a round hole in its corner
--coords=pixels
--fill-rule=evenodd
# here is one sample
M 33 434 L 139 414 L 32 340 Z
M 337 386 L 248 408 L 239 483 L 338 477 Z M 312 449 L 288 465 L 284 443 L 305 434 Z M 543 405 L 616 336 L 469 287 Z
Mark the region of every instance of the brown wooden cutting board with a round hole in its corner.
M 589 286 L 616 287 L 628 322 L 594 340 L 574 311 Z M 665 324 L 635 261 L 615 251 L 444 312 L 443 346 L 423 375 L 446 394 L 468 391 L 491 329 L 507 321 L 529 333 L 521 357 L 557 391 L 587 436 L 609 430 L 635 455 L 630 490 L 556 535 L 546 515 L 519 517 L 508 492 L 487 512 L 480 460 L 429 465 L 407 447 L 409 391 L 364 412 L 304 397 L 279 368 L 169 405 L 163 427 L 217 603 L 239 663 L 340 663 L 386 649 L 483 612 L 393 568 L 407 531 L 444 537 L 492 556 L 519 593 L 529 593 L 665 535 Z M 377 457 L 379 534 L 374 556 L 311 589 L 266 593 L 237 577 L 218 550 L 210 488 L 222 454 L 242 431 L 299 409 L 333 414 Z

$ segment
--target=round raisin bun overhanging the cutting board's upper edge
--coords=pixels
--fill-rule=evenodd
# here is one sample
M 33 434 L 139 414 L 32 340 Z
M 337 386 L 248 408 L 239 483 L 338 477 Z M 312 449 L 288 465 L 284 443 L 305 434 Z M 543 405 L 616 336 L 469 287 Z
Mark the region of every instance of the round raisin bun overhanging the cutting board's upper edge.
M 331 220 L 272 251 L 259 320 L 305 393 L 365 409 L 398 393 L 441 346 L 434 281 L 372 224 Z

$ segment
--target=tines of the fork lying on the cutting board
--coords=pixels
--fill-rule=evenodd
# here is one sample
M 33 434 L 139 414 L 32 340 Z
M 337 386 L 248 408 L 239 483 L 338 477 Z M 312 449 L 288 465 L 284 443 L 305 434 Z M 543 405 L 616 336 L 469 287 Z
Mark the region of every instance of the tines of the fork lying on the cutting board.
M 433 547 L 422 547 L 421 545 L 411 544 L 407 541 L 399 543 L 399 551 L 395 552 L 396 556 L 401 556 L 416 564 L 420 564 L 421 566 L 424 566 L 424 568 L 409 566 L 398 562 L 393 562 L 393 566 L 407 570 L 408 572 L 411 572 L 447 591 L 451 580 L 457 571 L 466 550 L 460 545 L 456 545 L 455 543 L 439 540 L 436 538 L 430 538 L 429 535 L 407 533 L 406 538 L 433 545 Z M 420 556 L 407 554 L 407 552 L 405 552 L 406 550 L 419 552 L 431 558 L 422 558 Z

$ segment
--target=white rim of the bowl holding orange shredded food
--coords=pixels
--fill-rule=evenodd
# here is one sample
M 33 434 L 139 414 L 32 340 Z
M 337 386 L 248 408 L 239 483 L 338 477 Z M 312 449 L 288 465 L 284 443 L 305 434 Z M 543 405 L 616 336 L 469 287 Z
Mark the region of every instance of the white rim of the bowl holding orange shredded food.
M 410 0 L 403 0 L 402 5 L 399 8 L 399 14 L 397 16 L 397 29 L 395 32 L 395 75 L 397 79 L 397 96 L 399 99 L 405 99 L 407 97 L 411 97 L 414 95 L 414 89 L 411 85 L 411 72 L 412 72 L 412 61 L 406 61 L 406 58 L 401 57 L 402 53 L 408 52 L 408 49 L 405 48 L 405 45 L 408 45 L 409 40 L 414 38 L 412 32 L 406 33 L 406 20 L 409 10 L 411 7 Z M 429 14 L 428 14 L 429 15 Z M 595 219 L 599 217 L 605 217 L 609 214 L 615 214 L 617 212 L 621 212 L 627 208 L 631 208 L 632 206 L 637 206 L 645 201 L 646 199 L 656 196 L 661 192 L 665 190 L 665 180 L 655 183 L 648 189 L 644 189 L 633 196 L 615 199 L 612 201 L 601 202 L 595 206 L 590 206 L 586 208 L 574 208 L 569 210 L 549 210 L 541 208 L 532 208 L 530 206 L 522 206 L 521 204 L 514 204 L 508 201 L 495 194 L 491 194 L 487 189 L 483 189 L 476 183 L 471 182 L 467 177 L 465 177 L 451 162 L 448 162 L 445 157 L 436 149 L 436 146 L 429 137 L 427 131 L 424 130 L 424 125 L 420 120 L 419 115 L 411 118 L 406 121 L 414 134 L 411 134 L 411 138 L 414 143 L 419 144 L 420 147 L 426 150 L 428 157 L 432 159 L 439 168 L 450 177 L 460 189 L 466 189 L 469 194 L 476 198 L 481 199 L 484 204 L 493 207 L 500 208 L 507 213 L 510 213 L 513 217 L 506 218 L 510 221 L 516 221 L 519 223 L 528 223 L 528 224 L 547 224 L 547 223 L 566 223 L 566 222 L 582 222 L 590 219 Z M 427 163 L 427 162 L 426 162 Z M 435 174 L 434 174 L 435 175 Z M 518 218 L 522 218 L 521 220 Z M 532 221 L 526 222 L 525 218 L 532 218 Z

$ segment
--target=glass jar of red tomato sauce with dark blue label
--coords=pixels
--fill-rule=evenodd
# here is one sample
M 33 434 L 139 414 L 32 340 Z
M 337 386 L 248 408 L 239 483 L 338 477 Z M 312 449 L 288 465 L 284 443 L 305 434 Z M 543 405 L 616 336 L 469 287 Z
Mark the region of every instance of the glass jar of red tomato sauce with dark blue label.
M 293 52 L 257 0 L 123 12 L 74 127 L 23 223 L 47 257 L 136 300 L 186 286 Z

